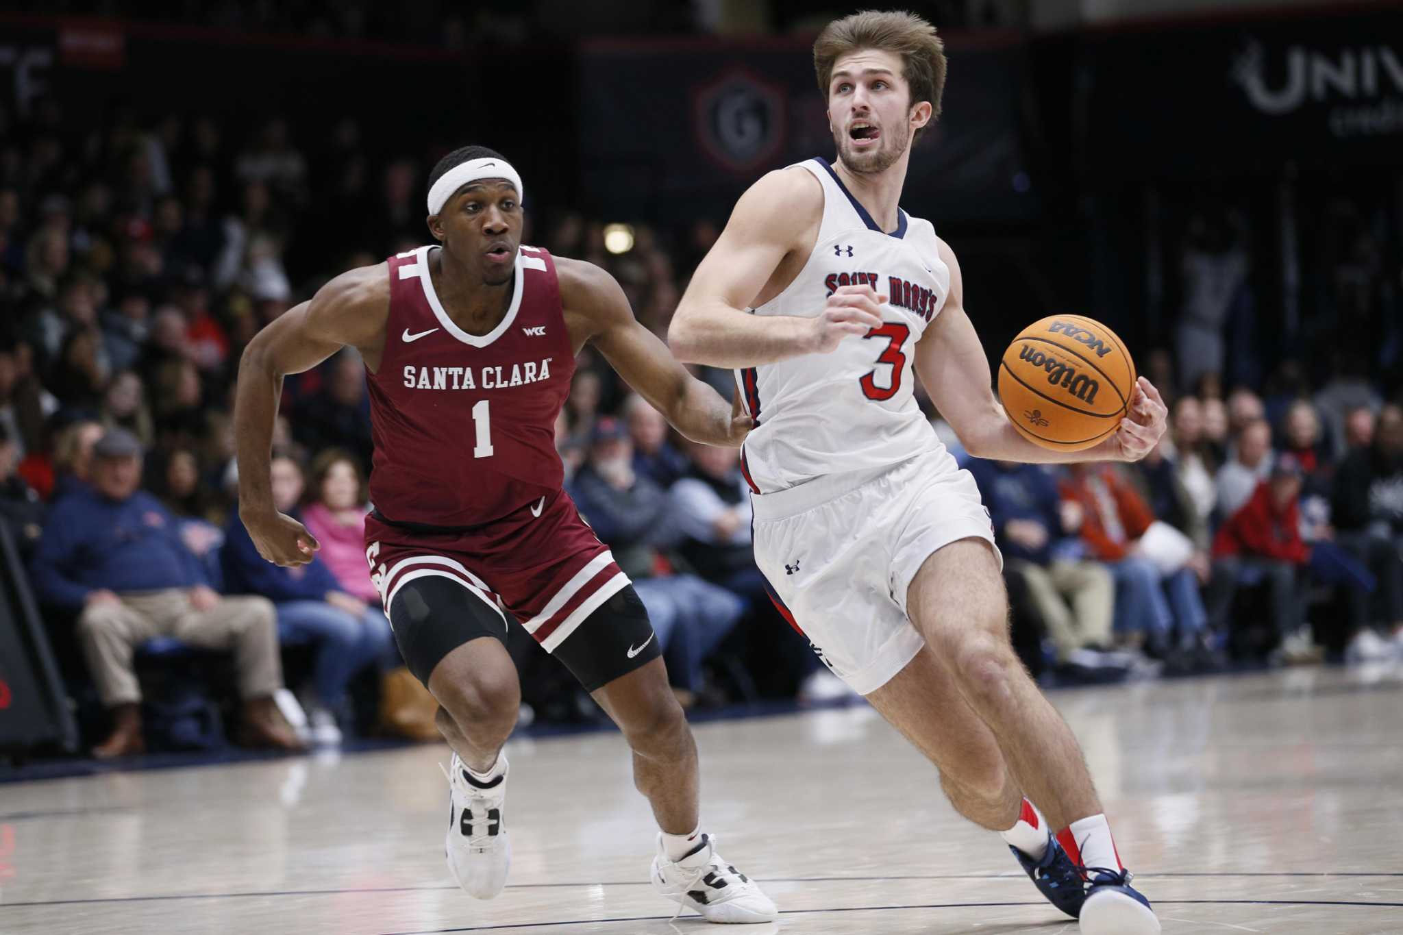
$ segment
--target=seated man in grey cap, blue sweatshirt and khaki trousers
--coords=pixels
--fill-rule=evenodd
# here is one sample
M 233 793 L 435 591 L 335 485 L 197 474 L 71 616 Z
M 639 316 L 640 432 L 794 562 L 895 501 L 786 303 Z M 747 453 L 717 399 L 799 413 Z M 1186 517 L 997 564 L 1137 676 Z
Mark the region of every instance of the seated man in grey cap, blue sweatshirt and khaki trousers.
M 174 517 L 137 489 L 142 447 L 129 432 L 107 432 L 93 460 L 93 486 L 76 488 L 49 513 L 32 576 L 43 600 L 79 614 L 79 639 L 114 722 L 94 756 L 145 749 L 132 655 L 154 636 L 231 649 L 244 698 L 241 739 L 299 749 L 272 699 L 282 688 L 272 604 L 220 597 L 209 587 Z

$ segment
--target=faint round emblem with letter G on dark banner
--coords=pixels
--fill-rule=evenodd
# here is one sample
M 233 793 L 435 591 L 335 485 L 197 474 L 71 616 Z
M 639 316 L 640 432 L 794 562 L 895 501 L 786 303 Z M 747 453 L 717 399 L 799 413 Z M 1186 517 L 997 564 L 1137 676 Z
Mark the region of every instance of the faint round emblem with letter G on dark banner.
M 702 150 L 732 172 L 749 171 L 784 142 L 784 94 L 748 69 L 721 73 L 693 95 Z

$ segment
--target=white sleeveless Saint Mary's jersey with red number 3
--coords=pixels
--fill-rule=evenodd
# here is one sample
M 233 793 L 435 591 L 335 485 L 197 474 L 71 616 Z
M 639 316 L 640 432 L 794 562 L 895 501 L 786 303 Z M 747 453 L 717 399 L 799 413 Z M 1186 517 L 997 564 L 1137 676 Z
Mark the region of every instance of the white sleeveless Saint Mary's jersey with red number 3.
M 798 163 L 824 186 L 824 221 L 808 262 L 756 315 L 812 318 L 839 286 L 888 296 L 884 325 L 812 353 L 735 371 L 756 426 L 741 449 L 759 493 L 817 477 L 884 467 L 940 450 L 913 397 L 916 342 L 944 307 L 950 269 L 929 221 L 898 209 L 885 233 L 826 160 Z

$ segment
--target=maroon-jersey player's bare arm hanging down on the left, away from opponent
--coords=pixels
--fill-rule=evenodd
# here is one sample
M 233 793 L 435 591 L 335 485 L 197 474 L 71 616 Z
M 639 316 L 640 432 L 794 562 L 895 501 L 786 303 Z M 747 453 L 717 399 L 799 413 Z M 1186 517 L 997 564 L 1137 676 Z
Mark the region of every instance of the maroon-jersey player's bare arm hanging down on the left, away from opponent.
M 362 353 L 383 345 L 390 314 L 384 265 L 341 273 L 254 335 L 239 362 L 234 439 L 239 457 L 239 517 L 258 554 L 278 565 L 306 565 L 320 548 L 316 537 L 274 509 L 269 463 L 282 378 L 317 366 L 344 346 Z

